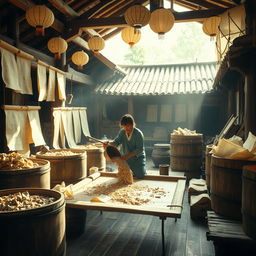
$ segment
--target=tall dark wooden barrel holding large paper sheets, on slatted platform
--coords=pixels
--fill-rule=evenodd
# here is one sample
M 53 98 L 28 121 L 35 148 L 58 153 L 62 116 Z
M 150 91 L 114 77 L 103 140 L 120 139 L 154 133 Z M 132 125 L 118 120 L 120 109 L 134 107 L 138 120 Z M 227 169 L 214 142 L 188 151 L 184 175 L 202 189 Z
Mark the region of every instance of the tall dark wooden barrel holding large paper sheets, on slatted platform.
M 242 170 L 253 163 L 212 155 L 211 204 L 216 213 L 230 219 L 242 218 Z

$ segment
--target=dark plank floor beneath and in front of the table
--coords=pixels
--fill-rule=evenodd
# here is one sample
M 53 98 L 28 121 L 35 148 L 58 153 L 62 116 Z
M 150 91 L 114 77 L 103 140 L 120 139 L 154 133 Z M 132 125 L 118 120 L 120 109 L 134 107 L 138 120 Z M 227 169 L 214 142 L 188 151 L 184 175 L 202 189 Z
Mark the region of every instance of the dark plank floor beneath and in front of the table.
M 207 225 L 190 219 L 187 193 L 181 219 L 165 220 L 165 255 L 211 256 Z M 155 216 L 87 211 L 85 232 L 67 241 L 67 256 L 162 255 L 161 220 Z

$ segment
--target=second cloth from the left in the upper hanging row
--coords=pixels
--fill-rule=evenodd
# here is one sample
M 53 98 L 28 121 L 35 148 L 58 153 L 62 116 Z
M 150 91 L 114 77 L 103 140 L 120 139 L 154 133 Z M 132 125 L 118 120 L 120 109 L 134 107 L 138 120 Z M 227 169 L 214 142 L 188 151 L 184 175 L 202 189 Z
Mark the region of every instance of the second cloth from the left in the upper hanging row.
M 31 60 L 17 55 L 17 70 L 20 93 L 32 95 Z

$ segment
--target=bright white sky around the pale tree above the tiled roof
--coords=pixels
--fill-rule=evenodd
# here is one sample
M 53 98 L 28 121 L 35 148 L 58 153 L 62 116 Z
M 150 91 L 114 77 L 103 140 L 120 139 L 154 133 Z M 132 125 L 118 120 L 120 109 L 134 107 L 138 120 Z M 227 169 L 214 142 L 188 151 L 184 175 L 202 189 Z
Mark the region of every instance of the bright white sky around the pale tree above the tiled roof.
M 165 8 L 169 8 L 170 7 L 170 3 L 166 2 L 165 3 Z M 174 10 L 176 11 L 186 11 L 186 9 L 176 6 L 174 5 Z M 202 30 L 202 24 L 198 23 L 198 22 L 193 22 L 195 23 L 196 26 L 196 33 L 198 33 L 198 35 L 194 36 L 196 37 L 195 40 L 198 40 L 198 37 L 202 37 L 202 40 L 200 40 L 200 42 L 202 41 L 203 44 L 201 43 L 200 45 L 198 45 L 198 47 L 200 48 L 200 54 L 196 55 L 196 59 L 192 60 L 192 62 L 204 62 L 204 61 L 215 61 L 216 60 L 216 54 L 215 54 L 215 42 L 214 40 L 211 41 L 210 37 L 205 35 L 203 30 Z M 189 30 L 190 28 L 188 27 L 188 23 L 175 23 L 174 26 L 172 27 L 172 29 L 165 34 L 165 38 L 164 39 L 158 39 L 158 35 L 153 32 L 149 25 L 143 27 L 141 29 L 141 40 L 136 44 L 138 46 L 143 47 L 146 50 L 147 56 L 146 56 L 146 60 L 144 64 L 154 64 L 154 55 L 153 52 L 161 52 L 164 58 L 164 51 L 165 49 L 171 50 L 171 46 L 175 43 L 176 38 L 181 37 L 181 31 L 186 31 Z M 189 31 L 188 31 L 189 33 Z M 185 38 L 185 37 L 184 37 Z M 184 45 L 186 44 L 191 44 L 192 45 L 192 41 L 193 38 L 190 38 L 189 40 L 191 40 L 190 42 L 186 42 L 184 41 Z M 122 38 L 121 38 L 121 32 L 119 34 L 117 34 L 116 36 L 112 37 L 111 39 L 107 40 L 105 42 L 106 46 L 104 48 L 104 50 L 101 51 L 101 53 L 106 56 L 107 58 L 109 58 L 111 61 L 113 61 L 115 64 L 126 64 L 125 60 L 124 60 L 124 56 L 129 52 L 129 45 L 126 44 Z M 194 42 L 194 44 L 196 44 Z M 181 50 L 183 46 L 183 43 L 180 44 Z M 177 49 L 177 46 L 176 48 Z M 175 50 L 174 49 L 174 50 Z M 157 51 L 158 50 L 158 51 Z M 161 60 L 158 60 L 158 64 L 159 61 L 161 62 Z M 165 64 L 166 62 L 168 63 L 186 63 L 188 62 L 186 60 L 186 58 L 184 57 L 180 57 L 180 58 L 174 58 L 174 59 L 170 59 L 170 60 L 163 60 L 162 64 Z M 189 61 L 191 62 L 191 60 Z

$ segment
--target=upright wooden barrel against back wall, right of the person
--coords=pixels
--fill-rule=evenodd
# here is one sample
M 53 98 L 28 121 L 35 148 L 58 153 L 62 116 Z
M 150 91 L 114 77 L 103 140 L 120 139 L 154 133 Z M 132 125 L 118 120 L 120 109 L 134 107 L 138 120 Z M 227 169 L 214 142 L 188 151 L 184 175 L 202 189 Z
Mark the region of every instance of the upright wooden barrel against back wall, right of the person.
M 203 135 L 171 134 L 171 170 L 198 178 L 202 167 Z

